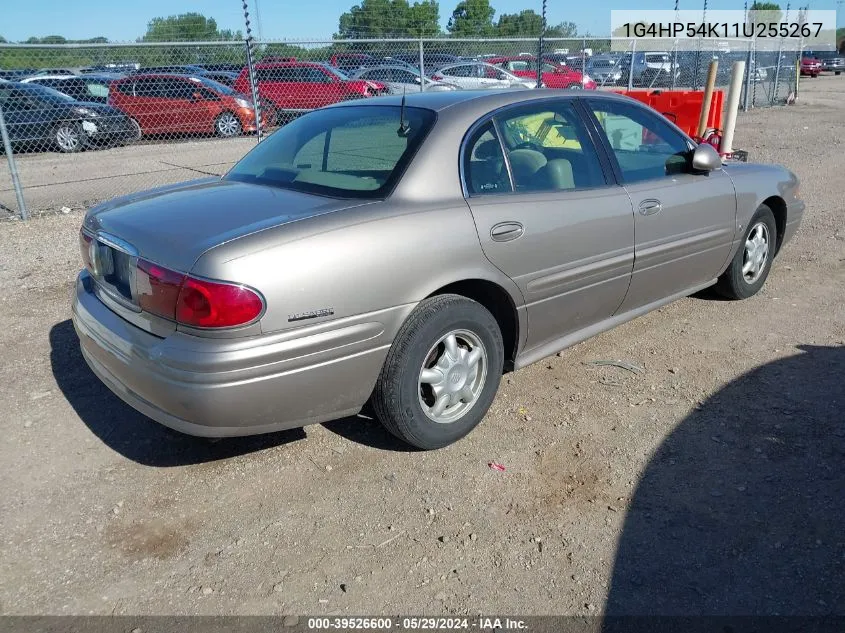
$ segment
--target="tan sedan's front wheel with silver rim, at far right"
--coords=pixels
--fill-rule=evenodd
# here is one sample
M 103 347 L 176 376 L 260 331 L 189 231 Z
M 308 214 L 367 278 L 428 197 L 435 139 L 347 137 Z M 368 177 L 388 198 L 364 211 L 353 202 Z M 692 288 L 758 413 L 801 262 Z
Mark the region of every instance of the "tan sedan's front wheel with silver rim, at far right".
M 766 283 L 777 247 L 777 225 L 772 210 L 760 205 L 745 232 L 745 239 L 719 278 L 716 290 L 728 299 L 747 299 Z

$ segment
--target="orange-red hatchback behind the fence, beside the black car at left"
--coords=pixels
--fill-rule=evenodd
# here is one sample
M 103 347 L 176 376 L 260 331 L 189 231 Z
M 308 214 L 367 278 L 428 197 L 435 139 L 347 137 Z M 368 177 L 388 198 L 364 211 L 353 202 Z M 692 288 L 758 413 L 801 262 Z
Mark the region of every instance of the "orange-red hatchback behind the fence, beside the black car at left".
M 109 105 L 145 134 L 211 132 L 238 136 L 255 131 L 252 101 L 229 86 L 189 75 L 130 75 L 111 84 Z M 262 125 L 267 125 L 262 113 Z

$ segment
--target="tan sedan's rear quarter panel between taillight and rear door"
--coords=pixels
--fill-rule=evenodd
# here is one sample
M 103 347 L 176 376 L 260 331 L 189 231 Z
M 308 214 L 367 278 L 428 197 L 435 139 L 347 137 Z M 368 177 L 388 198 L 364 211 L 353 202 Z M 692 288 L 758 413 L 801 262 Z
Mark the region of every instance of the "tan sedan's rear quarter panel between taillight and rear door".
M 260 231 L 207 251 L 193 273 L 262 292 L 263 332 L 411 308 L 466 279 L 497 283 L 515 305 L 523 303 L 515 284 L 484 257 L 463 199 L 379 202 Z M 319 310 L 331 314 L 291 320 Z

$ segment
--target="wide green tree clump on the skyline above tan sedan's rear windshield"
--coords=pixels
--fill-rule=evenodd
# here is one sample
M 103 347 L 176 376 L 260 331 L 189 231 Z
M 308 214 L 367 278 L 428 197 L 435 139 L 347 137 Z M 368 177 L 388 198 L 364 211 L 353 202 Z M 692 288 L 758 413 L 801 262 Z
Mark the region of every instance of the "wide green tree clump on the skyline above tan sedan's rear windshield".
M 440 33 L 436 0 L 363 0 L 338 20 L 336 39 L 423 37 Z

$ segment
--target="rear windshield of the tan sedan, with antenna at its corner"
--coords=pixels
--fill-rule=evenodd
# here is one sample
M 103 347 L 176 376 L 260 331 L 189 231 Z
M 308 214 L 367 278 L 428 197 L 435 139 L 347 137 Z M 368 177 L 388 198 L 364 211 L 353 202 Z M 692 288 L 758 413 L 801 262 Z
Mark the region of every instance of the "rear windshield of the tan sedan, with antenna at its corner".
M 435 114 L 399 106 L 346 106 L 310 112 L 279 129 L 225 179 L 339 198 L 383 198 L 425 139 Z

